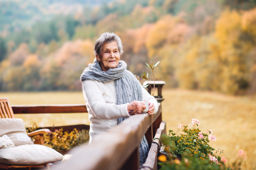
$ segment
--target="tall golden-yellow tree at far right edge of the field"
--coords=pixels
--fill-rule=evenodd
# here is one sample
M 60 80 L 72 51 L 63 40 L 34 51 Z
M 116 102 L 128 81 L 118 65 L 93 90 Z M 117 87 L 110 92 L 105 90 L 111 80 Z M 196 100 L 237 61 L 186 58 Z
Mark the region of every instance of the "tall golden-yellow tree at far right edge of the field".
M 249 39 L 241 39 L 246 36 L 241 23 L 241 15 L 228 10 L 216 21 L 215 37 L 220 53 L 215 58 L 220 58 L 220 89 L 227 94 L 235 94 L 239 89 L 246 88 L 248 81 L 246 55 L 253 44 Z

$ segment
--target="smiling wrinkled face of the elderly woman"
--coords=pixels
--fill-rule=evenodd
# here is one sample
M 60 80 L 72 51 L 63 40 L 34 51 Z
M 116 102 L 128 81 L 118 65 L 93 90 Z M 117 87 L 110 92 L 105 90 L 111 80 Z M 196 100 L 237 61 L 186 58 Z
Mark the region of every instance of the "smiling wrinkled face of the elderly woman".
M 108 71 L 108 69 L 116 68 L 120 60 L 116 41 L 103 45 L 101 55 L 100 57 L 96 55 L 96 59 L 100 61 L 102 71 L 104 72 Z

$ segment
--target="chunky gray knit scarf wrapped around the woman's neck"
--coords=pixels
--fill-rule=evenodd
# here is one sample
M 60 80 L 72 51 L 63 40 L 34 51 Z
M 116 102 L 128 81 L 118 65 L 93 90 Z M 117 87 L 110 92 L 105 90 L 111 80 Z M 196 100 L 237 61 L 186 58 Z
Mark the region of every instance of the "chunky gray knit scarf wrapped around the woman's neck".
M 81 81 L 95 80 L 100 82 L 115 81 L 116 86 L 116 104 L 126 104 L 132 101 L 142 101 L 141 85 L 137 78 L 128 70 L 126 70 L 126 63 L 119 61 L 118 66 L 115 69 L 108 69 L 108 71 L 102 71 L 100 64 L 94 59 L 92 64 L 89 64 L 81 75 Z M 120 124 L 127 118 L 118 118 L 117 124 Z M 143 136 L 140 142 L 140 166 L 145 162 L 148 156 L 148 142 Z

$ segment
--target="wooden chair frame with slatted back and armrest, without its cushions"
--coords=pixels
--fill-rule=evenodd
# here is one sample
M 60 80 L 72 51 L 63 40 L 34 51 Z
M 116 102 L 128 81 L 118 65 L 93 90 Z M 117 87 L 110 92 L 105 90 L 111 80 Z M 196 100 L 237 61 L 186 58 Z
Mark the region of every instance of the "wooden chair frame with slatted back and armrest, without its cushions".
M 14 118 L 12 107 L 10 105 L 8 98 L 0 98 L 0 118 Z M 34 144 L 44 145 L 44 133 L 51 133 L 49 129 L 36 130 L 32 133 L 29 133 L 29 137 L 36 136 Z M 47 167 L 49 170 L 49 164 L 40 164 L 40 165 L 10 165 L 10 164 L 1 164 L 0 168 L 10 169 L 10 168 L 26 168 L 31 170 L 32 167 Z

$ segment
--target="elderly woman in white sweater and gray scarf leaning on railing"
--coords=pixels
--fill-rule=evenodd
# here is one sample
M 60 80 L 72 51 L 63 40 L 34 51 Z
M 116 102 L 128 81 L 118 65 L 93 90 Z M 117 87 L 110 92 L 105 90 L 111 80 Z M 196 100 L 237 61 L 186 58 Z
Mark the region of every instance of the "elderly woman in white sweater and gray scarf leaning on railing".
M 149 101 L 148 114 L 157 112 L 157 101 L 141 86 L 135 76 L 120 61 L 123 53 L 121 39 L 114 33 L 103 33 L 94 46 L 96 58 L 81 75 L 84 99 L 89 113 L 90 141 L 108 131 L 131 115 L 141 114 Z M 140 146 L 140 165 L 148 154 L 143 137 Z

